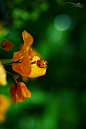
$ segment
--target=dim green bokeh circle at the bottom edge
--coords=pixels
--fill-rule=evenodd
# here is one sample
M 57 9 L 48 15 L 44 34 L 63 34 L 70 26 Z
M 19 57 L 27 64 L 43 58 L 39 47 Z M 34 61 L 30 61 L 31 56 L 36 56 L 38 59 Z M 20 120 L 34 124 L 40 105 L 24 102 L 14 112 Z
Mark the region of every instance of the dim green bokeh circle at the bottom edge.
M 28 115 L 22 116 L 19 121 L 19 125 L 21 128 L 31 129 L 34 126 L 34 119 Z

